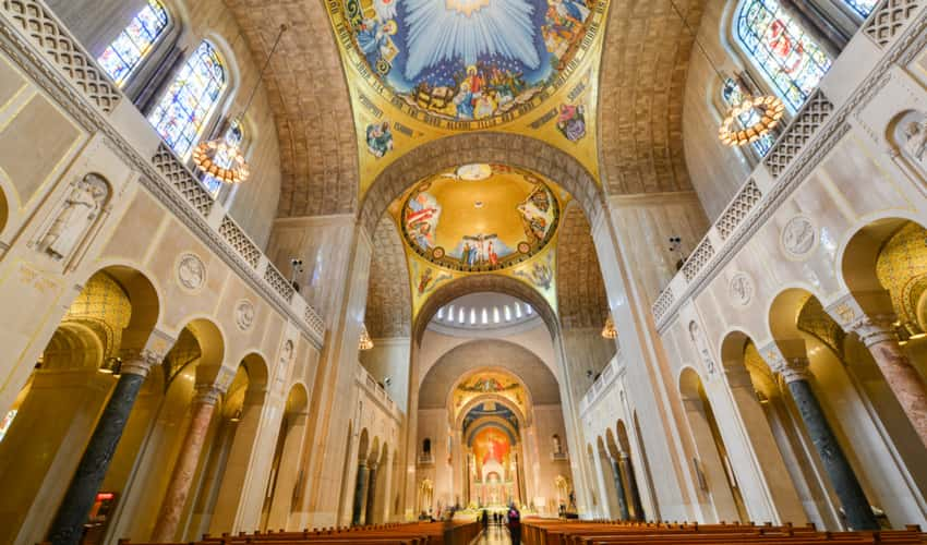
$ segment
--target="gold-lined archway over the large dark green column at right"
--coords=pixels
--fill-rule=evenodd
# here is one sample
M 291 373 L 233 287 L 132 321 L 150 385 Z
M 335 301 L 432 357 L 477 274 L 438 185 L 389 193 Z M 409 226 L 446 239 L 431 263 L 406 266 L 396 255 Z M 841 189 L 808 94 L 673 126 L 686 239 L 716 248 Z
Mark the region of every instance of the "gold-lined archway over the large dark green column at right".
M 812 461 L 823 477 L 821 486 L 829 491 L 834 520 L 840 526 L 864 529 L 923 516 L 913 508 L 920 495 L 916 481 L 900 474 L 898 462 L 888 462 L 898 453 L 890 453 L 895 447 L 882 421 L 892 414 L 884 403 L 894 399 L 886 395 L 871 354 L 804 288 L 775 296 L 769 326 L 775 347 L 769 363 L 778 365 L 791 393 L 790 410 L 815 447 Z M 894 420 L 895 425 L 910 426 L 896 404 Z M 914 474 L 919 465 L 908 462 Z M 879 521 L 883 514 L 887 520 Z

